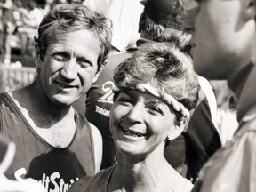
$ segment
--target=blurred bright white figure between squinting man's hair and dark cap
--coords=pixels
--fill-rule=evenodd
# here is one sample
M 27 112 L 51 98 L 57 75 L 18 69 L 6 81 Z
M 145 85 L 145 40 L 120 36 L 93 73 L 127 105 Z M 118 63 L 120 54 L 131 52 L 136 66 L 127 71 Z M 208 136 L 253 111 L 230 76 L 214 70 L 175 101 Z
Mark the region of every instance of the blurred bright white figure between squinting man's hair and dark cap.
M 138 24 L 143 11 L 140 0 L 86 0 L 83 4 L 113 21 L 112 52 L 135 46 L 140 38 Z

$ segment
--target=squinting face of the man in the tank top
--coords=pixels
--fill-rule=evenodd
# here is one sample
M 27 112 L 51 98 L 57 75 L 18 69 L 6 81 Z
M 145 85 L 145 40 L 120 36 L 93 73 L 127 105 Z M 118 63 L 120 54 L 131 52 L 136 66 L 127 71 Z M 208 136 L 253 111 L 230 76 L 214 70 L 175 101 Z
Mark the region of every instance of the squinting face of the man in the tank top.
M 48 99 L 71 105 L 92 85 L 100 54 L 99 40 L 86 29 L 52 34 L 39 62 L 40 84 Z

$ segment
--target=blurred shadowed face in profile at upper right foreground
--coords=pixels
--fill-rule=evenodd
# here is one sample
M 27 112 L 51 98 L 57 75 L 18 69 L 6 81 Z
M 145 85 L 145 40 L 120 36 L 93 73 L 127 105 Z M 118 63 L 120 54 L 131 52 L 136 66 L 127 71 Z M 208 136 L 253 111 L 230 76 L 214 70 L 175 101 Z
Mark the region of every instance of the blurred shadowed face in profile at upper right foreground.
M 245 2 L 247 0 L 202 0 L 194 8 L 194 20 L 188 16 L 190 30 L 191 22 L 195 24 L 191 53 L 199 75 L 226 79 L 250 58 L 255 26 L 244 25 Z

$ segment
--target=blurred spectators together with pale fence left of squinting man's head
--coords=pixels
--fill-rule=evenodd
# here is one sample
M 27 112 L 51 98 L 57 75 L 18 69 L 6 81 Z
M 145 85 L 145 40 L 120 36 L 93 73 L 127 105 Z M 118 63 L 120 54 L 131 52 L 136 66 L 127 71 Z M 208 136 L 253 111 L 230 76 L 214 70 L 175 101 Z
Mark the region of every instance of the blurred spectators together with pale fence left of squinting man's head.
M 83 3 L 79 0 L 0 1 L 0 92 L 20 88 L 33 81 L 34 36 L 44 15 L 55 4 Z

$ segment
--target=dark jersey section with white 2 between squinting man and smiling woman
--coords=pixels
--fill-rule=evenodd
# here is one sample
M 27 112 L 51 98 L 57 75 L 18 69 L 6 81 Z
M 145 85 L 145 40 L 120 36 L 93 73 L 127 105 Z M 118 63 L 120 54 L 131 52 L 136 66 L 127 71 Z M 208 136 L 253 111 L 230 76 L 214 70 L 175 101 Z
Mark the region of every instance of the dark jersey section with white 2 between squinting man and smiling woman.
M 101 169 L 116 164 L 116 147 L 109 128 L 109 113 L 113 104 L 113 73 L 115 68 L 132 53 L 118 52 L 108 55 L 107 65 L 100 73 L 98 80 L 87 92 L 85 116 L 100 131 L 103 140 L 103 157 Z

